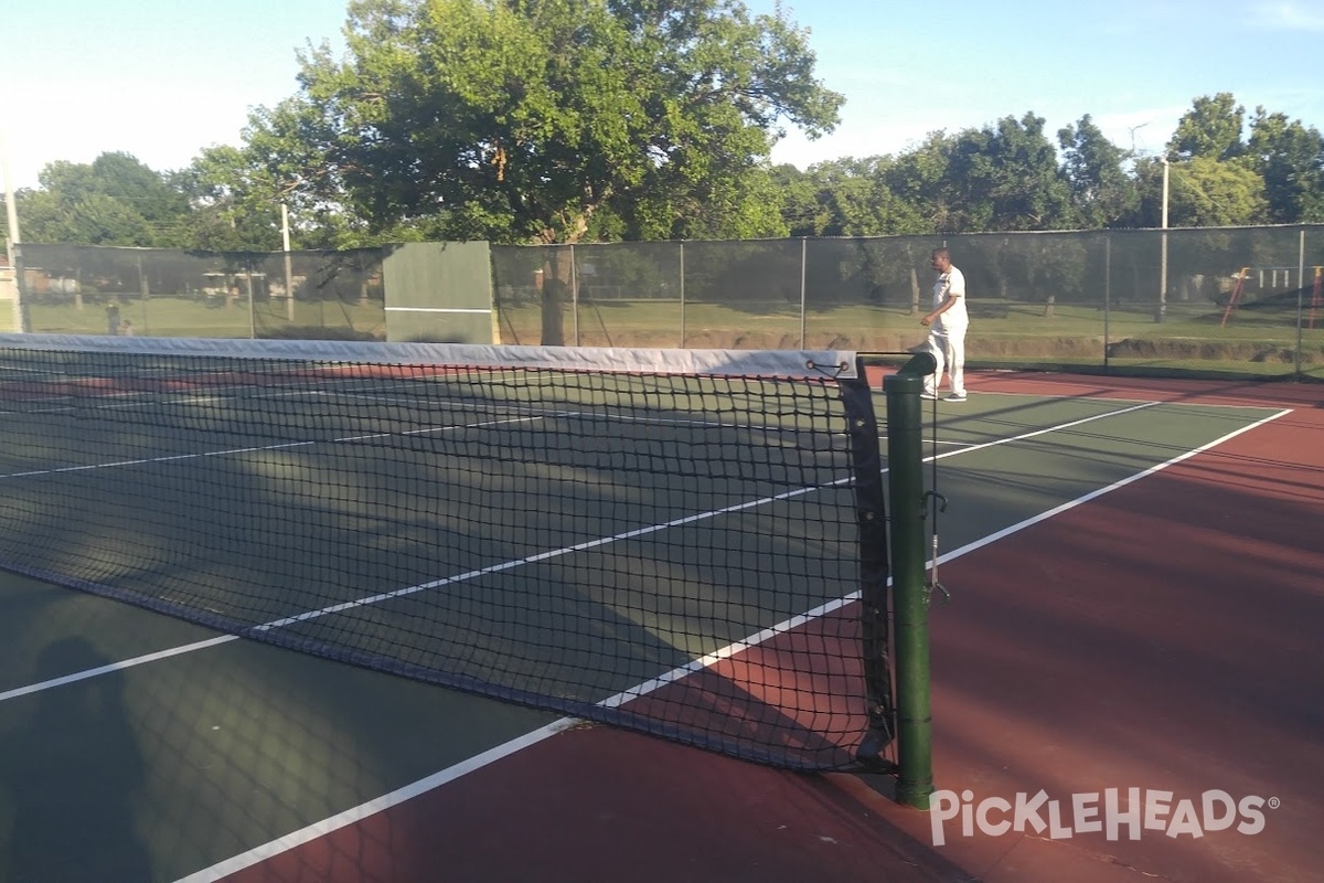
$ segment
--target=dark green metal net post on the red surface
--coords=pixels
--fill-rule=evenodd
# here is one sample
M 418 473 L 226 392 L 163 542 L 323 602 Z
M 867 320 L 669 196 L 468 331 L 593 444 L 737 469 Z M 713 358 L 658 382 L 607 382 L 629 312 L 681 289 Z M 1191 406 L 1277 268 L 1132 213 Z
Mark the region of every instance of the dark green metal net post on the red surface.
M 928 592 L 924 585 L 924 457 L 920 392 L 933 373 L 929 353 L 883 380 L 887 395 L 887 482 L 895 597 L 896 801 L 928 809 L 933 793 L 928 667 Z

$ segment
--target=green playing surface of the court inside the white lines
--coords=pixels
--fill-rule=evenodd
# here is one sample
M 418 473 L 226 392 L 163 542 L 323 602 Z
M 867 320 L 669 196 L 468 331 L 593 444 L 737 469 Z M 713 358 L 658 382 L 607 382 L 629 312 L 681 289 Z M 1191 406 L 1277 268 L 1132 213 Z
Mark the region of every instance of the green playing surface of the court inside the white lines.
M 879 393 L 879 416 L 883 408 Z M 935 413 L 936 422 L 929 422 Z M 977 392 L 961 405 L 937 402 L 936 412 L 925 402 L 924 453 L 937 457 L 937 490 L 947 500 L 936 522 L 940 553 L 959 553 L 1055 507 L 1133 481 L 1276 413 L 1276 408 Z M 150 424 L 146 417 L 126 434 L 135 436 L 138 445 L 138 436 L 147 436 Z M 692 436 L 671 434 L 674 429 L 663 433 L 661 443 L 682 449 L 706 443 L 703 437 L 695 442 Z M 207 432 L 204 447 L 233 441 L 224 429 Z M 371 478 L 355 478 L 332 474 L 315 457 L 297 461 L 267 451 L 260 458 L 267 478 L 352 488 L 336 498 L 338 511 L 314 514 L 322 519 L 315 527 L 323 537 L 314 548 L 282 545 L 279 527 L 290 512 L 261 506 L 261 487 L 250 483 L 253 473 L 236 469 L 220 482 L 213 475 L 200 494 L 196 483 L 171 471 L 200 463 L 195 458 L 168 470 L 135 473 L 130 482 L 135 492 L 143 490 L 142 482 L 154 482 L 150 490 L 159 499 L 162 530 L 155 539 L 118 536 L 126 541 L 124 557 L 105 565 L 109 569 L 102 579 L 114 582 L 142 577 L 132 561 L 147 548 L 127 545 L 131 540 L 154 547 L 151 557 L 163 561 L 158 567 L 164 573 L 152 576 L 162 577 L 163 585 L 176 579 L 172 567 L 242 572 L 245 582 L 266 586 L 263 592 L 278 596 L 278 606 L 294 613 L 451 577 L 457 571 L 420 571 L 426 564 L 410 557 L 409 547 L 453 543 L 467 556 L 458 569 L 522 563 L 457 585 L 454 596 L 465 597 L 461 609 L 466 617 L 512 620 L 518 624 L 514 634 L 530 639 L 569 629 L 573 620 L 589 612 L 598 617 L 601 625 L 594 629 L 542 657 L 531 657 L 553 670 L 583 669 L 580 654 L 628 659 L 608 674 L 587 678 L 584 690 L 592 700 L 629 690 L 831 601 L 843 589 L 854 589 L 854 564 L 849 561 L 831 572 L 796 572 L 796 565 L 789 564 L 801 560 L 808 547 L 846 547 L 854 539 L 853 531 L 838 535 L 837 528 L 825 527 L 850 523 L 849 514 L 834 520 L 831 512 L 849 512 L 851 506 L 849 492 L 833 486 L 826 475 L 817 479 L 822 492 L 761 507 L 776 510 L 776 518 L 761 510 L 715 514 L 719 506 L 706 496 L 715 486 L 730 500 L 767 498 L 782 488 L 769 486 L 768 475 L 756 466 L 715 477 L 704 477 L 695 467 L 683 481 L 639 473 L 629 485 L 608 486 L 597 483 L 593 470 L 571 455 L 576 445 L 584 443 L 575 434 L 580 430 L 556 437 L 545 426 L 512 432 L 528 433 L 530 445 L 548 454 L 504 473 L 508 499 L 498 510 L 519 511 L 522 500 L 527 500 L 524 482 L 556 486 L 560 496 L 539 494 L 526 507 L 528 519 L 538 523 L 536 532 L 522 532 L 522 524 L 508 520 L 508 515 L 495 523 L 466 516 L 463 510 L 482 511 L 478 504 L 491 499 L 489 492 L 466 495 L 463 481 L 454 474 L 448 481 L 461 490 L 453 507 L 429 514 L 428 523 L 414 524 L 414 514 L 397 512 L 389 524 L 372 524 L 357 507 L 388 486 L 436 481 L 438 473 L 454 471 L 455 463 L 412 459 L 408 451 L 393 451 L 375 461 Z M 620 432 L 613 426 L 605 437 Z M 659 433 L 651 426 L 642 436 L 655 438 Z M 598 441 L 589 443 L 605 437 L 594 436 Z M 572 445 L 557 438 L 577 441 Z M 97 462 L 128 453 L 114 450 L 111 440 L 101 441 L 105 446 L 97 449 Z M 487 469 L 479 447 L 474 451 L 466 469 Z M 28 459 L 32 455 L 29 451 Z M 604 455 L 618 457 L 610 450 Z M 928 475 L 931 466 L 924 469 Z M 13 461 L 4 471 L 16 471 Z M 75 520 L 86 526 L 111 526 L 107 530 L 114 532 L 124 481 L 124 473 L 117 470 L 45 475 L 41 483 L 25 483 L 26 496 L 19 499 L 40 507 L 52 487 L 64 487 L 83 500 L 82 512 L 69 510 L 65 516 L 77 515 Z M 616 507 L 613 500 L 620 499 L 632 506 Z M 702 522 L 671 524 L 692 514 L 696 503 L 704 515 Z M 233 526 L 233 536 L 218 536 L 200 556 L 172 557 L 172 527 L 187 522 L 200 506 L 224 511 L 217 523 Z M 633 518 L 621 520 L 624 511 L 634 512 Z M 779 534 L 784 519 L 802 519 L 809 527 L 788 537 Z M 57 518 L 48 519 L 46 526 L 62 527 Z M 649 532 L 624 536 L 638 530 Z M 690 534 L 677 545 L 706 549 L 702 560 L 666 559 L 661 540 L 671 534 Z M 351 536 L 371 553 L 344 555 L 335 561 L 339 571 L 348 568 L 354 573 L 339 588 L 318 585 L 315 572 L 295 576 L 294 571 L 271 569 L 271 561 L 282 557 L 334 557 L 336 547 Z M 538 541 L 528 541 L 531 536 Z M 604 537 L 621 539 L 592 544 Z M 739 547 L 739 555 L 723 553 L 728 540 Z M 78 559 L 81 543 L 70 531 L 58 555 Z M 585 543 L 589 545 L 575 548 Z M 269 545 L 275 548 L 266 548 L 265 557 L 245 557 L 245 549 Z M 532 560 L 544 552 L 556 556 Z M 776 567 L 793 571 L 788 580 L 794 590 L 779 594 L 772 606 L 760 605 L 761 586 L 748 576 L 761 572 L 755 559 L 771 559 Z M 60 561 L 48 564 L 54 568 Z M 690 579 L 700 573 L 714 597 L 720 596 L 720 605 L 714 598 L 669 598 L 669 568 L 687 571 Z M 620 581 L 594 584 L 602 575 Z M 331 594 L 315 600 L 323 589 Z M 524 596 L 512 601 L 512 592 Z M 399 604 L 383 605 L 381 629 L 371 633 L 372 639 L 389 643 L 393 629 L 405 627 L 402 624 L 426 629 L 426 624 L 417 622 L 421 614 L 413 606 L 416 600 L 410 594 Z M 213 604 L 217 612 L 233 614 L 240 601 L 222 592 Z M 700 606 L 700 618 L 708 618 L 708 631 L 671 629 L 681 608 L 694 605 Z M 214 879 L 207 868 L 408 790 L 442 770 L 459 774 L 483 752 L 557 720 L 552 711 L 232 639 L 201 625 L 20 576 L 0 576 L 0 879 Z M 265 616 L 254 618 L 262 621 Z M 440 627 L 449 626 L 442 622 Z M 461 671 L 500 666 L 500 642 L 465 647 L 462 637 L 449 635 L 430 646 L 428 663 L 454 665 Z M 379 651 L 380 646 L 367 649 Z M 502 670 L 499 676 L 518 688 L 522 679 L 547 678 L 555 683 L 564 674 L 526 661 Z M 78 679 L 60 682 L 71 676 Z M 438 837 L 444 835 L 438 831 Z

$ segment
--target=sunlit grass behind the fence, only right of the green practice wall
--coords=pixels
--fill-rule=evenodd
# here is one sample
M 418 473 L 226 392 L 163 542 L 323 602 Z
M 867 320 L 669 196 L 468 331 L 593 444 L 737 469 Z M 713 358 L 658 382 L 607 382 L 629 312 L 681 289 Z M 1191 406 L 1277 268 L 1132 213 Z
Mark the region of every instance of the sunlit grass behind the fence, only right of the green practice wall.
M 982 367 L 1115 367 L 1197 371 L 1245 376 L 1292 375 L 1298 360 L 1296 314 L 1239 310 L 1226 324 L 1211 304 L 1172 304 L 1164 322 L 1152 308 L 1112 310 L 1009 304 L 976 315 L 967 340 L 972 364 Z M 503 343 L 539 343 L 536 304 L 499 310 Z M 1324 379 L 1324 316 L 1300 334 L 1303 373 Z M 904 352 L 924 343 L 919 318 L 904 310 L 845 306 L 800 312 L 784 303 L 720 304 L 612 302 L 563 311 L 567 343 L 614 347 L 839 348 Z

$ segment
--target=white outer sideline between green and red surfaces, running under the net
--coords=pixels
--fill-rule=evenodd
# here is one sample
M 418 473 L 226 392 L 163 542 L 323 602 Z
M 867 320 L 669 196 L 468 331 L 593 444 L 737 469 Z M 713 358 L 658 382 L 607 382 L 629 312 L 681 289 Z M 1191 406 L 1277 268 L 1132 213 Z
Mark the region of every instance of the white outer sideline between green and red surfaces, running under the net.
M 1135 410 L 1135 409 L 1133 408 L 1127 408 L 1125 410 Z M 1117 412 L 1117 413 L 1125 413 L 1125 410 Z M 1137 473 L 1137 474 L 1131 475 L 1128 478 L 1124 478 L 1124 479 L 1121 479 L 1119 482 L 1113 482 L 1112 485 L 1110 485 L 1107 487 L 1102 487 L 1102 488 L 1098 488 L 1095 491 L 1091 491 L 1090 494 L 1086 494 L 1086 495 L 1079 496 L 1079 498 L 1076 498 L 1074 500 L 1063 503 L 1063 504 L 1061 504 L 1061 506 L 1058 506 L 1058 507 L 1055 507 L 1053 510 L 1049 510 L 1047 512 L 1042 512 L 1042 514 L 1035 515 L 1033 518 L 1025 519 L 1023 522 L 1019 522 L 1018 524 L 1013 524 L 1012 527 L 1008 527 L 1008 528 L 1005 528 L 1002 531 L 998 531 L 997 534 L 986 536 L 986 537 L 984 537 L 981 540 L 976 540 L 974 543 L 969 543 L 967 545 L 963 545 L 959 549 L 955 549 L 952 552 L 948 552 L 947 555 L 940 556 L 939 561 L 941 563 L 941 561 L 951 561 L 951 560 L 959 559 L 963 555 L 968 555 L 968 553 L 970 553 L 970 552 L 973 552 L 976 549 L 980 549 L 980 548 L 988 545 L 989 543 L 993 543 L 994 540 L 1004 539 L 1006 536 L 1010 536 L 1012 534 L 1017 534 L 1019 531 L 1023 531 L 1023 530 L 1026 530 L 1029 527 L 1033 527 L 1034 524 L 1038 524 L 1039 522 L 1043 522 L 1043 520 L 1046 520 L 1049 518 L 1053 518 L 1054 515 L 1061 515 L 1062 512 L 1066 512 L 1067 510 L 1075 508 L 1076 506 L 1080 506 L 1083 503 L 1088 503 L 1090 500 L 1098 499 L 1099 496 L 1103 496 L 1104 494 L 1108 494 L 1108 492 L 1115 491 L 1117 488 L 1125 487 L 1127 485 L 1131 485 L 1132 482 L 1136 482 L 1136 481 L 1139 481 L 1139 479 L 1141 479 L 1141 478 L 1144 478 L 1147 475 L 1152 475 L 1152 474 L 1158 473 L 1158 471 L 1161 471 L 1164 469 L 1168 469 L 1169 466 L 1174 466 L 1174 465 L 1177 465 L 1177 463 L 1180 463 L 1180 462 L 1182 462 L 1185 459 L 1189 459 L 1189 458 L 1192 458 L 1192 457 L 1194 457 L 1197 454 L 1201 454 L 1201 453 L 1204 453 L 1206 450 L 1217 447 L 1218 445 L 1222 445 L 1223 442 L 1230 441 L 1230 440 L 1235 438 L 1237 436 L 1241 436 L 1242 433 L 1247 433 L 1247 432 L 1250 432 L 1250 430 L 1253 430 L 1253 429 L 1255 429 L 1258 426 L 1262 426 L 1262 425 L 1264 425 L 1264 424 L 1267 424 L 1270 421 L 1278 420 L 1279 417 L 1283 417 L 1283 416 L 1290 414 L 1290 413 L 1292 413 L 1291 409 L 1286 409 L 1286 410 L 1280 410 L 1280 412 L 1278 412 L 1275 414 L 1271 414 L 1268 417 L 1264 417 L 1263 420 L 1260 420 L 1260 421 L 1258 421 L 1255 424 L 1251 424 L 1249 426 L 1243 426 L 1243 428 L 1237 429 L 1237 430 L 1234 430 L 1231 433 L 1227 433 L 1222 438 L 1217 438 L 1217 440 L 1209 442 L 1207 445 L 1202 445 L 1201 447 L 1197 447 L 1194 450 L 1190 450 L 1190 451 L 1186 451 L 1186 453 L 1180 454 L 1177 457 L 1173 457 L 1172 459 L 1165 461 L 1162 463 L 1158 463 L 1156 466 L 1152 466 L 1152 467 L 1147 469 L 1143 473 Z M 1090 418 L 1090 420 L 1096 420 L 1096 418 Z M 1080 422 L 1088 422 L 1088 421 L 1074 421 L 1071 424 L 1063 424 L 1063 428 L 1066 428 L 1066 426 L 1076 426 Z M 1042 432 L 1026 433 L 1025 437 L 1027 438 L 1027 437 L 1039 436 L 1039 434 L 1042 434 Z M 990 446 L 990 445 L 981 445 L 980 447 L 988 447 L 988 446 Z M 708 654 L 703 659 L 695 659 L 694 662 L 691 662 L 691 663 L 688 663 L 686 666 L 681 666 L 678 669 L 673 669 L 671 671 L 669 671 L 665 675 L 661 675 L 658 678 L 653 678 L 651 680 L 646 680 L 645 683 L 641 683 L 637 687 L 632 687 L 630 690 L 626 690 L 626 691 L 620 692 L 620 694 L 617 694 L 614 696 L 610 696 L 609 699 L 604 699 L 602 702 L 600 702 L 597 704 L 601 706 L 601 707 L 606 707 L 606 708 L 616 708 L 618 706 L 622 706 L 622 704 L 625 704 L 626 702 L 629 702 L 632 699 L 637 699 L 639 696 L 645 696 L 645 695 L 653 692 L 654 690 L 658 690 L 658 688 L 661 688 L 661 687 L 663 687 L 663 686 L 666 686 L 669 683 L 674 683 L 675 680 L 679 680 L 685 675 L 692 674 L 695 671 L 699 671 L 700 669 L 706 669 L 707 666 L 711 666 L 711 665 L 719 662 L 720 659 L 727 659 L 727 658 L 730 658 L 730 657 L 732 657 L 732 655 L 735 655 L 735 654 L 737 654 L 737 653 L 740 653 L 743 650 L 747 650 L 749 647 L 757 646 L 757 645 L 763 643 L 764 641 L 768 641 L 769 638 L 772 638 L 772 637 L 775 637 L 777 634 L 781 634 L 781 633 L 788 631 L 790 629 L 798 627 L 800 625 L 810 622 L 814 618 L 826 616 L 826 614 L 831 613 L 833 610 L 838 610 L 838 609 L 841 609 L 841 608 L 846 606 L 847 604 L 850 604 L 853 601 L 857 601 L 857 600 L 859 600 L 859 592 L 851 592 L 850 594 L 847 594 L 847 596 L 845 596 L 842 598 L 838 598 L 835 601 L 830 601 L 828 604 L 824 604 L 822 606 L 817 608 L 816 610 L 810 610 L 809 613 L 801 614 L 798 617 L 793 617 L 793 618 L 790 618 L 790 620 L 788 620 L 788 621 L 785 621 L 782 624 L 779 624 L 776 626 L 772 626 L 769 629 L 764 629 L 763 631 L 759 631 L 757 634 L 751 635 L 751 637 L 745 638 L 744 641 L 737 641 L 737 642 L 735 642 L 735 643 L 732 643 L 732 645 L 730 645 L 727 647 L 723 647 L 722 650 L 718 650 L 715 653 Z M 307 827 L 299 829 L 297 831 L 291 831 L 290 834 L 286 834 L 285 837 L 281 837 L 278 839 L 274 839 L 274 841 L 270 841 L 267 843 L 263 843 L 262 846 L 254 847 L 254 849 L 252 849 L 252 850 L 249 850 L 246 853 L 241 853 L 238 855 L 230 857 L 229 859 L 226 859 L 224 862 L 220 862 L 217 864 L 213 864 L 213 866 L 211 866 L 208 868 L 203 868 L 201 871 L 196 871 L 195 874 L 189 874 L 188 876 L 176 880 L 176 883 L 214 883 L 216 880 L 220 880 L 220 879 L 222 879 L 222 878 L 225 878 L 225 876 L 228 876 L 230 874 L 236 874 L 236 872 L 238 872 L 238 871 L 241 871 L 241 870 L 244 870 L 246 867 L 252 867 L 253 864 L 257 864 L 260 862 L 265 862 L 265 860 L 267 860 L 270 858 L 274 858 L 274 857 L 277 857 L 277 855 L 279 855 L 282 853 L 286 853 L 286 851 L 298 849 L 301 846 L 305 846 L 306 843 L 310 843 L 310 842 L 318 839 L 319 837 L 324 837 L 326 834 L 336 831 L 336 830 L 339 830 L 342 827 L 346 827 L 348 825 L 354 825 L 354 823 L 360 822 L 364 818 L 368 818 L 368 817 L 371 817 L 371 815 L 373 815 L 376 813 L 380 813 L 383 810 L 391 809 L 392 806 L 402 804 L 402 802 L 405 802 L 408 800 L 418 797 L 418 796 L 426 793 L 428 790 L 432 790 L 433 788 L 438 788 L 438 786 L 445 785 L 448 782 L 455 781 L 457 778 L 459 778 L 462 776 L 466 776 L 466 774 L 469 774 L 469 773 L 471 773 L 471 772 L 474 772 L 474 770 L 477 770 L 477 769 L 479 769 L 482 767 L 486 767 L 487 764 L 493 763 L 494 760 L 499 760 L 502 757 L 508 757 L 510 755 L 520 752 L 524 748 L 528 748 L 530 745 L 536 744 L 536 743 L 542 741 L 543 739 L 547 739 L 548 736 L 551 736 L 551 735 L 553 735 L 556 732 L 561 732 L 564 729 L 568 729 L 568 728 L 573 727 L 579 721 L 576 719 L 573 719 L 573 718 L 561 718 L 560 720 L 556 720 L 555 723 L 548 724 L 547 727 L 543 727 L 542 729 L 538 729 L 538 731 L 530 733 L 528 736 L 522 736 L 519 739 L 512 739 L 511 741 L 507 741 L 507 743 L 504 743 L 502 745 L 498 745 L 498 747 L 495 747 L 495 748 L 493 748 L 493 749 L 490 749 L 487 752 L 483 752 L 482 755 L 478 755 L 477 757 L 474 757 L 471 760 L 467 760 L 465 763 L 457 764 L 454 767 L 448 767 L 446 769 L 444 769 L 444 770 L 441 770 L 438 773 L 434 773 L 434 774 L 429 776 L 428 778 L 422 778 L 422 780 L 420 780 L 417 782 L 413 782 L 410 785 L 406 785 L 406 786 L 404 786 L 404 788 L 401 788 L 399 790 L 391 792 L 389 794 L 385 794 L 383 797 L 377 797 L 376 800 L 367 801 L 367 802 L 360 804 L 360 805 L 357 805 L 357 806 L 355 806 L 352 809 L 348 809 L 348 810 L 346 810 L 343 813 L 332 815 L 330 818 L 324 818 L 320 822 L 315 822 L 312 825 L 308 825 Z

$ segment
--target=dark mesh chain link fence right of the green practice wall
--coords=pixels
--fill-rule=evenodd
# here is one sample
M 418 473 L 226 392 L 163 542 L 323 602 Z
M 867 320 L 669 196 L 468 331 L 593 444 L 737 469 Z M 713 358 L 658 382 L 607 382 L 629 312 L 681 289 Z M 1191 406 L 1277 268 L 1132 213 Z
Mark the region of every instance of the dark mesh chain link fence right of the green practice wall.
M 974 367 L 1324 379 L 1324 225 L 493 246 L 499 334 L 908 351 L 940 245 Z

